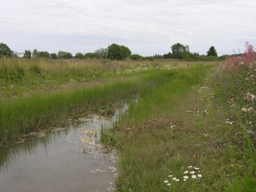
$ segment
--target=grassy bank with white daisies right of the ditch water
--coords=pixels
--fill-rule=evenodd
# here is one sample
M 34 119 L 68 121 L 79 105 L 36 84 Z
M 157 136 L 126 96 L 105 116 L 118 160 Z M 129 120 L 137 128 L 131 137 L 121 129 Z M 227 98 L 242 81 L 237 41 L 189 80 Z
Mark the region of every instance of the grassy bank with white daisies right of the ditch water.
M 245 80 L 255 70 L 247 72 L 198 66 L 143 89 L 117 122 L 126 127 L 102 130 L 103 143 L 120 149 L 117 189 L 254 191 L 255 113 L 241 111 L 255 92 L 255 79 Z

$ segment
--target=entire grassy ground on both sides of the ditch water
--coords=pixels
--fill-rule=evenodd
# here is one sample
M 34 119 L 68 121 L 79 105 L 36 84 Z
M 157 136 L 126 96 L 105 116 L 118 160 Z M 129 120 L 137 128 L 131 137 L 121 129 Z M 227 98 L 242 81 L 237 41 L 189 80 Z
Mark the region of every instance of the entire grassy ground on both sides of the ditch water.
M 118 191 L 255 191 L 255 68 L 238 73 L 218 62 L 164 60 L 0 63 L 1 145 L 63 126 L 73 115 L 111 115 L 136 95 L 117 125 L 101 131 L 102 143 L 120 152 Z

